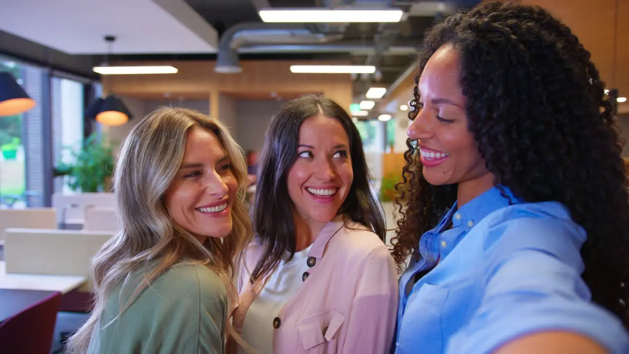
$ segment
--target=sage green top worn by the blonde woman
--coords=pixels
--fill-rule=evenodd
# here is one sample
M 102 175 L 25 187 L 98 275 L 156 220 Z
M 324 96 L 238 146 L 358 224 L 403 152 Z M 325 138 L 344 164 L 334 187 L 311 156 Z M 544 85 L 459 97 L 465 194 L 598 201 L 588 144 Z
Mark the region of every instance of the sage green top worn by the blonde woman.
M 142 268 L 132 276 L 142 277 L 148 271 L 149 267 Z M 125 285 L 125 297 L 133 294 L 136 285 L 131 281 Z M 120 294 L 118 286 L 107 300 L 87 354 L 225 352 L 227 293 L 218 275 L 206 266 L 172 266 L 115 319 L 121 305 L 126 305 Z

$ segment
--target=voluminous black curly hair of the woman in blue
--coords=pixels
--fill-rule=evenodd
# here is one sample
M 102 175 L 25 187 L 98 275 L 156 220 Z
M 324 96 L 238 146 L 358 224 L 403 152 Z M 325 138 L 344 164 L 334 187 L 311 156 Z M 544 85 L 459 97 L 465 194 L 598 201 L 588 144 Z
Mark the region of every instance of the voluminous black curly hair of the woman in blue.
M 629 195 L 612 103 L 589 52 L 570 28 L 537 6 L 490 2 L 433 26 L 420 51 L 421 72 L 443 45 L 461 55 L 465 111 L 496 185 L 526 202 L 557 201 L 587 232 L 582 278 L 594 302 L 629 326 Z M 413 110 L 420 94 L 414 90 Z M 433 186 L 421 173 L 411 140 L 402 215 L 392 254 L 418 256 L 421 235 L 457 199 L 457 185 Z M 626 286 L 625 286 L 626 285 Z

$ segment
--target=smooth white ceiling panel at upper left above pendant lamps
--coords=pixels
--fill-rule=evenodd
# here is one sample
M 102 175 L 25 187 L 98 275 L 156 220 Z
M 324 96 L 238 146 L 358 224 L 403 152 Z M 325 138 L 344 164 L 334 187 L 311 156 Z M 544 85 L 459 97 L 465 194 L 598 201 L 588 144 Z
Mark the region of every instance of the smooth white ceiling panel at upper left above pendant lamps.
M 185 24 L 185 25 L 184 25 Z M 0 30 L 68 54 L 216 52 L 216 30 L 184 0 L 0 0 Z

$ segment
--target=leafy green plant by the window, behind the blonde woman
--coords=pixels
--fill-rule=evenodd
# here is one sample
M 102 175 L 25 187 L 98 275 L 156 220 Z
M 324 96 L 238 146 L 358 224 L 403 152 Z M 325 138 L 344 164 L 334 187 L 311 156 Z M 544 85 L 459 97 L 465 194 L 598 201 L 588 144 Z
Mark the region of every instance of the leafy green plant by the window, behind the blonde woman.
M 83 143 L 82 149 L 69 150 L 74 163 L 58 164 L 55 175 L 67 176 L 68 186 L 75 191 L 97 192 L 106 190 L 106 180 L 113 171 L 113 150 L 107 139 L 99 139 L 97 133 L 93 133 Z

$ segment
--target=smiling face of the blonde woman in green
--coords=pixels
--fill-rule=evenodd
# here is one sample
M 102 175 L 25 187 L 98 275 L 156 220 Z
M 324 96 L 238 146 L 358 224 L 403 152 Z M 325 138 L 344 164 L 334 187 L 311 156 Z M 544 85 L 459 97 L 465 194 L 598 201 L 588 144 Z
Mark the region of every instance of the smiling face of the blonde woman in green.
M 231 206 L 237 190 L 230 157 L 216 135 L 191 128 L 183 161 L 165 194 L 173 221 L 201 243 L 207 237 L 225 237 L 231 232 Z

